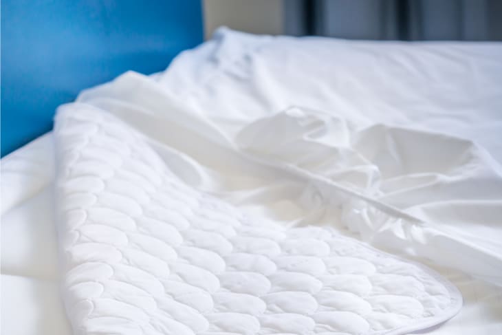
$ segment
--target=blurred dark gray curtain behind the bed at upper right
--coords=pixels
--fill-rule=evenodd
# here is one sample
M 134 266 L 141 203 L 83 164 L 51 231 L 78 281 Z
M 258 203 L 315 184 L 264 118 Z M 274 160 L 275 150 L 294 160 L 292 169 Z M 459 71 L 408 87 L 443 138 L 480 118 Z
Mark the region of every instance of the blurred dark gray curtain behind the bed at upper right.
M 502 0 L 284 0 L 285 32 L 343 39 L 502 41 Z

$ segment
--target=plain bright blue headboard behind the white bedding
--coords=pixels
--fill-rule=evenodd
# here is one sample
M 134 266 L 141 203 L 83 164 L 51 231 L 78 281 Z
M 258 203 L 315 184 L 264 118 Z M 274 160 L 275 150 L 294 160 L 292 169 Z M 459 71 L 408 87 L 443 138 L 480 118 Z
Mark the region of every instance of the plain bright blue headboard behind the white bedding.
M 52 128 L 58 105 L 203 39 L 200 0 L 2 0 L 1 155 Z

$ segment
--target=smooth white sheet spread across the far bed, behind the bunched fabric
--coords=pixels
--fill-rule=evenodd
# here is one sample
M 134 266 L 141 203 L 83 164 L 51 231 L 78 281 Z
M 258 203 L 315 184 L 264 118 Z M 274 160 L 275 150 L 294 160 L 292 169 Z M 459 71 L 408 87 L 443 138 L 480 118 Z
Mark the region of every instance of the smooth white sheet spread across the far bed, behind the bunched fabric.
M 501 54 L 502 43 L 298 39 L 222 28 L 158 80 L 228 129 L 303 106 L 358 128 L 383 123 L 466 138 L 502 162 Z

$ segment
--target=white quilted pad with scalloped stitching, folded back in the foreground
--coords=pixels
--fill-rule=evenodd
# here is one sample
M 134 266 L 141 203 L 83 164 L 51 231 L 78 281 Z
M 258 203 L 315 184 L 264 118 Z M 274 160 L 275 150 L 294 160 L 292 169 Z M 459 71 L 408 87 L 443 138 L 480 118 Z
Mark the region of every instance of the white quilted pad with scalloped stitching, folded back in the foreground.
M 55 136 L 76 334 L 405 334 L 459 310 L 423 266 L 190 188 L 109 114 L 63 108 Z

